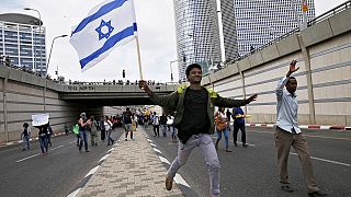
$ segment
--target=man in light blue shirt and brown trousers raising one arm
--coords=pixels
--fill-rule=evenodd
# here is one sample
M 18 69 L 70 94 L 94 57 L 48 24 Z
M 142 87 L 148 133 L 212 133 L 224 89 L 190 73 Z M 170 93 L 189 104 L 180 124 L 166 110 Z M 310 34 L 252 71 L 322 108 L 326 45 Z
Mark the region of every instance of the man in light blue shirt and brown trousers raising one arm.
M 275 89 L 278 112 L 274 138 L 281 188 L 287 193 L 294 192 L 293 187 L 290 186 L 287 175 L 287 159 L 290 149 L 293 147 L 302 164 L 308 196 L 327 196 L 327 194 L 320 192 L 317 187 L 307 140 L 297 125 L 297 80 L 291 74 L 298 69 L 298 67 L 296 68 L 296 61 L 293 60 L 290 63 L 288 72 L 278 82 Z

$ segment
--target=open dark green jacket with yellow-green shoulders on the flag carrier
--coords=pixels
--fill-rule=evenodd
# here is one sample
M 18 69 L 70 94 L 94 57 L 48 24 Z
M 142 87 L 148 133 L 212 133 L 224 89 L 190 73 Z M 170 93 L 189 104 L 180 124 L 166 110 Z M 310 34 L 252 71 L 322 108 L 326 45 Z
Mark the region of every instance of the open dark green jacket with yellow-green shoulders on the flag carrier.
M 203 88 L 205 89 L 205 88 Z M 172 92 L 168 95 L 159 96 L 154 92 L 149 95 L 150 100 L 156 105 L 160 105 L 163 108 L 169 111 L 177 111 L 174 117 L 174 126 L 178 127 L 183 119 L 184 114 L 184 97 L 185 93 L 189 90 L 189 86 L 182 85 L 178 88 L 176 92 Z M 214 131 L 214 106 L 224 106 L 224 107 L 238 107 L 247 104 L 246 100 L 231 100 L 219 96 L 213 90 L 206 89 L 208 92 L 208 102 L 207 102 L 207 115 L 211 121 L 211 127 L 208 128 L 208 134 Z

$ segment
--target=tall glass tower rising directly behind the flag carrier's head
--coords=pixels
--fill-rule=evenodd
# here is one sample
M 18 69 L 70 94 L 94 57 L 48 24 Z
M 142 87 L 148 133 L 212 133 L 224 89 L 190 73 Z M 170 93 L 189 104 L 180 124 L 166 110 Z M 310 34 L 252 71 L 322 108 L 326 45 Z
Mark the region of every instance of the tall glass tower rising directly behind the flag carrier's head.
M 179 79 L 185 81 L 185 68 L 199 62 L 208 72 L 220 61 L 220 40 L 216 0 L 174 0 Z

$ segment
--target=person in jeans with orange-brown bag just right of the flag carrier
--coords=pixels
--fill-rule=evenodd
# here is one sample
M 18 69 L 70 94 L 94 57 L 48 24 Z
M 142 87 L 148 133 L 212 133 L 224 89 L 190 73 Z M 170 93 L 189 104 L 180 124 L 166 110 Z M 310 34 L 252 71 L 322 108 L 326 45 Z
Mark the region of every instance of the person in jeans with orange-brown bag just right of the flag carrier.
M 215 148 L 218 150 L 218 142 L 222 139 L 222 134 L 225 138 L 226 143 L 226 152 L 231 152 L 229 149 L 229 138 L 228 138 L 228 119 L 224 112 L 225 107 L 219 106 L 218 112 L 215 114 L 215 124 L 216 124 L 216 131 L 217 131 L 217 140 Z

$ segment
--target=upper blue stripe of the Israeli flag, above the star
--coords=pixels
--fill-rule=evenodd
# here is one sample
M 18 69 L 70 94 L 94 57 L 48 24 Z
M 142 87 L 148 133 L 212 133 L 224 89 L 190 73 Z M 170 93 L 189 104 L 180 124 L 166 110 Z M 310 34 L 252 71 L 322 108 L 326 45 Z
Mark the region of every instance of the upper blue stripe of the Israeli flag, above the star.
M 79 23 L 79 25 L 77 26 L 77 28 L 72 32 L 71 36 L 78 32 L 80 32 L 81 30 L 83 30 L 91 21 L 94 21 L 95 19 L 101 18 L 102 15 L 111 12 L 112 10 L 120 8 L 123 5 L 124 2 L 126 2 L 128 0 L 114 0 L 111 1 L 107 4 L 104 4 L 103 7 L 101 7 L 98 12 L 95 12 L 94 14 L 86 18 L 82 22 Z

